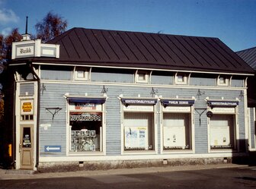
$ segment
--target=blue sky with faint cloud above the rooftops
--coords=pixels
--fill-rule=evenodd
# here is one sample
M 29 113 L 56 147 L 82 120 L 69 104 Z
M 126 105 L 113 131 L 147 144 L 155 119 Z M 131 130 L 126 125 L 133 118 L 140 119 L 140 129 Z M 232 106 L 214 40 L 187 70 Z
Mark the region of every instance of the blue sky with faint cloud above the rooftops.
M 68 28 L 217 37 L 233 51 L 256 46 L 256 0 L 0 0 L 0 33 L 36 34 L 52 11 Z

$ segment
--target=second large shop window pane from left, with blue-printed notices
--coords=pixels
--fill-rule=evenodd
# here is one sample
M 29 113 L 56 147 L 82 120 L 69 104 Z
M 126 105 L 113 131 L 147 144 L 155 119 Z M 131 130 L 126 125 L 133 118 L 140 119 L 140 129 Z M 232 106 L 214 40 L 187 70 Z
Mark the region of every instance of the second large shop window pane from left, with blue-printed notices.
M 124 112 L 124 151 L 155 150 L 152 112 Z

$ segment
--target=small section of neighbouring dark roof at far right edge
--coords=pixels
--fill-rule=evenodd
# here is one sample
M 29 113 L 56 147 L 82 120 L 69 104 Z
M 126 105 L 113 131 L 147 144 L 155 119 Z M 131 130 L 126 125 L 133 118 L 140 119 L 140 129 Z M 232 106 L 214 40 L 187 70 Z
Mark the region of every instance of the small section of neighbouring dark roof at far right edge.
M 256 71 L 256 47 L 238 51 L 236 54 Z

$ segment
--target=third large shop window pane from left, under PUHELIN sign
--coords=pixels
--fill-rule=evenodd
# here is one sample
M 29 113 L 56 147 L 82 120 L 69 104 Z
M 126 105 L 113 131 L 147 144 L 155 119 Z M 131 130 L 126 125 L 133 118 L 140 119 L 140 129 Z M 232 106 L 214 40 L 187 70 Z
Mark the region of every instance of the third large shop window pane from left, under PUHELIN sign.
M 163 150 L 191 150 L 190 113 L 163 114 Z

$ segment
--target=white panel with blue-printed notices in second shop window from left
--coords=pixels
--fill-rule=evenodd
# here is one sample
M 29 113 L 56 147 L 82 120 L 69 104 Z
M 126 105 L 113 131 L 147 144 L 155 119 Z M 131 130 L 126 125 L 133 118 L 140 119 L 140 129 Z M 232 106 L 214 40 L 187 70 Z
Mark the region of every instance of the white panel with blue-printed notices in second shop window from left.
M 125 127 L 125 150 L 149 150 L 147 127 Z

